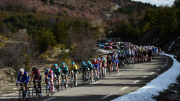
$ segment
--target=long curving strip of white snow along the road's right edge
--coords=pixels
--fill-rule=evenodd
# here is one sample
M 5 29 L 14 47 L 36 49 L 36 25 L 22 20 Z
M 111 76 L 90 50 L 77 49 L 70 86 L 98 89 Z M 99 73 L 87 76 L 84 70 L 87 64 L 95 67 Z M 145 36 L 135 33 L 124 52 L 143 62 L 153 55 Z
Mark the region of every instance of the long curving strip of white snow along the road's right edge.
M 135 92 L 116 98 L 112 101 L 156 101 L 152 96 L 158 96 L 160 91 L 168 89 L 168 86 L 172 83 L 176 83 L 176 78 L 180 73 L 180 63 L 174 58 L 173 55 L 162 53 L 173 59 L 173 66 L 159 75 L 157 78 L 147 83 L 146 86 L 138 89 Z

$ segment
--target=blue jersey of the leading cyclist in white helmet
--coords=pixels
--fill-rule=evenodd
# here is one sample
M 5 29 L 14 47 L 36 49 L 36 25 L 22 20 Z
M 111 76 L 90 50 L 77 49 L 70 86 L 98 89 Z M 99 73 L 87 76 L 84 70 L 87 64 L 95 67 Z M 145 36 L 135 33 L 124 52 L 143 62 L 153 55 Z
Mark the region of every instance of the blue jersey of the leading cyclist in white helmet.
M 21 80 L 20 80 L 20 78 L 21 78 Z M 29 82 L 28 72 L 25 71 L 23 75 L 21 73 L 18 74 L 17 83 L 19 83 L 19 82 L 24 82 L 25 84 L 27 84 Z

